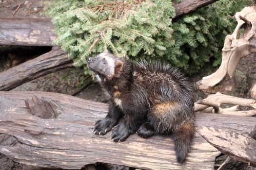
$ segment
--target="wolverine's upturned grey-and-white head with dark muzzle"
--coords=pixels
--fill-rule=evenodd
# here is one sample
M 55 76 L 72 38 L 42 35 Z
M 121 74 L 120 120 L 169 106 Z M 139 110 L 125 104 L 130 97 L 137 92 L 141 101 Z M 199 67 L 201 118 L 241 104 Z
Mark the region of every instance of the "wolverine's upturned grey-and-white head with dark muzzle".
M 123 62 L 118 57 L 105 50 L 96 57 L 89 58 L 87 60 L 87 67 L 100 77 L 110 80 L 120 75 Z

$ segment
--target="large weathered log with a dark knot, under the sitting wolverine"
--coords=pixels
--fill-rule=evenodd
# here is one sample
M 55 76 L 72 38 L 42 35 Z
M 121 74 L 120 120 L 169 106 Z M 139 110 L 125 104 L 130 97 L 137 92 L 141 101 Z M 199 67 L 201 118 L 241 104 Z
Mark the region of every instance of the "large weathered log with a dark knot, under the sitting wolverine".
M 148 139 L 136 134 L 112 142 L 110 133 L 92 132 L 107 104 L 49 92 L 0 92 L 0 133 L 15 136 L 16 146 L 0 146 L 0 153 L 36 167 L 81 169 L 96 162 L 150 170 L 214 169 L 220 153 L 196 133 L 185 164 L 178 164 L 173 140 Z M 40 118 L 39 118 L 40 117 Z M 196 127 L 218 127 L 247 134 L 254 117 L 196 114 Z

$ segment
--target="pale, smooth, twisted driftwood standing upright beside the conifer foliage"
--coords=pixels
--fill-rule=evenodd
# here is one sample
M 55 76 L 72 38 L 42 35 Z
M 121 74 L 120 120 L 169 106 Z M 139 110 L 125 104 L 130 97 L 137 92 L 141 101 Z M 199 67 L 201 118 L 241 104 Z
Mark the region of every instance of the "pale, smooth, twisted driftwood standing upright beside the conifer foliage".
M 197 82 L 199 89 L 207 92 L 215 92 L 214 87 L 226 76 L 233 77 L 236 66 L 242 57 L 251 53 L 256 53 L 256 6 L 245 7 L 236 15 L 237 26 L 233 34 L 227 35 L 222 49 L 222 62 L 220 67 L 213 74 L 203 77 Z M 239 36 L 239 31 L 245 22 L 243 33 Z M 233 87 L 225 85 L 223 90 L 232 90 Z M 219 90 L 218 90 L 219 91 Z

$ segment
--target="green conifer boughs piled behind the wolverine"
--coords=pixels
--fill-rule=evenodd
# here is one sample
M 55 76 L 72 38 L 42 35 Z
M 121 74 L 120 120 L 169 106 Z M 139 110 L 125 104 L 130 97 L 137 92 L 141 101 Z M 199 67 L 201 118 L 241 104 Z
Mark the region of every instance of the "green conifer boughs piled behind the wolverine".
M 54 43 L 69 52 L 75 66 L 86 66 L 88 57 L 108 49 L 192 74 L 211 58 L 219 64 L 224 37 L 236 24 L 232 16 L 251 3 L 219 0 L 174 20 L 171 0 L 54 0 L 46 12 L 55 24 Z

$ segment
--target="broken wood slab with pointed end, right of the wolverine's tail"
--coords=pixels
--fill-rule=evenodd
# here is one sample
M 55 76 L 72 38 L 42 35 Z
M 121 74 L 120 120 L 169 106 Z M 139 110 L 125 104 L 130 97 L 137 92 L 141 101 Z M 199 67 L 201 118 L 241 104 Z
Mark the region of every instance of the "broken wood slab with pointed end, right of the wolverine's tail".
M 256 167 L 256 140 L 237 132 L 200 127 L 197 132 L 220 152 Z

